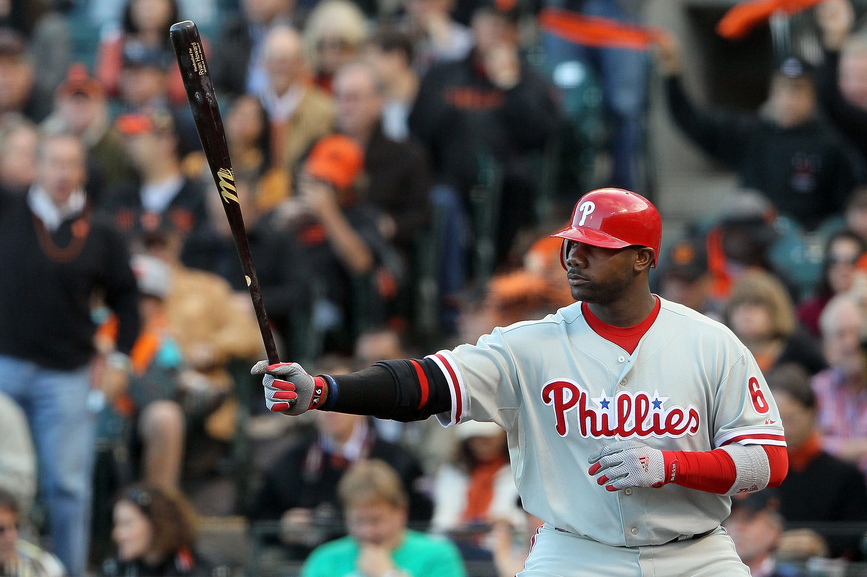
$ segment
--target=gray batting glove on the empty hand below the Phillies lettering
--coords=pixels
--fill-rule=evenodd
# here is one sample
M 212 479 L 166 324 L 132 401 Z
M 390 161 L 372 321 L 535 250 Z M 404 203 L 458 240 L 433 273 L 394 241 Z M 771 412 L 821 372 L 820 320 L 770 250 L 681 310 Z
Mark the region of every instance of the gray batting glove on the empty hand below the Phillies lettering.
M 638 441 L 619 441 L 604 446 L 590 456 L 593 466 L 587 471 L 596 475 L 604 471 L 596 483 L 616 491 L 627 487 L 662 487 L 665 484 L 665 457 Z

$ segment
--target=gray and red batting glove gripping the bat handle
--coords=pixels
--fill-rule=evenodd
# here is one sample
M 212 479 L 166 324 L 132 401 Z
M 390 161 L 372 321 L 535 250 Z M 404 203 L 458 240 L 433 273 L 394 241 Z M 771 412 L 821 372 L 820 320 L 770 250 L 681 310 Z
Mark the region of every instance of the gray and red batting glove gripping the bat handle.
M 300 415 L 321 405 L 327 394 L 322 377 L 311 377 L 298 363 L 269 365 L 260 360 L 251 374 L 262 374 L 265 387 L 265 405 L 269 411 L 284 415 Z

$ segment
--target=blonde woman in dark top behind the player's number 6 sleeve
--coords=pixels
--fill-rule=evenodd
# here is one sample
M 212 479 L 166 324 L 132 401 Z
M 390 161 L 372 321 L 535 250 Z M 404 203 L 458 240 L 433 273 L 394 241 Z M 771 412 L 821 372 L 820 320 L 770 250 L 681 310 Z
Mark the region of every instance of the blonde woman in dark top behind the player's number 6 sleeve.
M 786 362 L 799 363 L 811 374 L 825 368 L 818 347 L 798 327 L 786 288 L 770 273 L 750 270 L 738 279 L 726 324 L 753 353 L 762 373 Z

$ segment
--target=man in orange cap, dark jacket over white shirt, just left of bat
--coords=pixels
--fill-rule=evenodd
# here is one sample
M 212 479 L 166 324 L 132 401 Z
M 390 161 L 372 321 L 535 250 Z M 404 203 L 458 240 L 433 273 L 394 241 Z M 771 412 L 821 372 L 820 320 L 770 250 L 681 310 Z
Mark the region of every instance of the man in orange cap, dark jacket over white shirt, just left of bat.
M 116 126 L 140 179 L 106 191 L 102 209 L 114 224 L 130 237 L 157 230 L 164 220 L 183 234 L 207 224 L 202 185 L 180 170 L 172 116 L 124 114 Z

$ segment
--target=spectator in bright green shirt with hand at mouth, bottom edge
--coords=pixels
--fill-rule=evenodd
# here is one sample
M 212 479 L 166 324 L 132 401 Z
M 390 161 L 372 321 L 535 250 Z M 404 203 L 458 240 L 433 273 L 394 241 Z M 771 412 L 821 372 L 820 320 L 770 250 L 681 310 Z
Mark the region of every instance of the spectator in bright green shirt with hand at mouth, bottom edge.
M 388 464 L 359 461 L 338 494 L 349 536 L 316 548 L 302 577 L 466 577 L 451 542 L 407 529 L 407 494 Z

